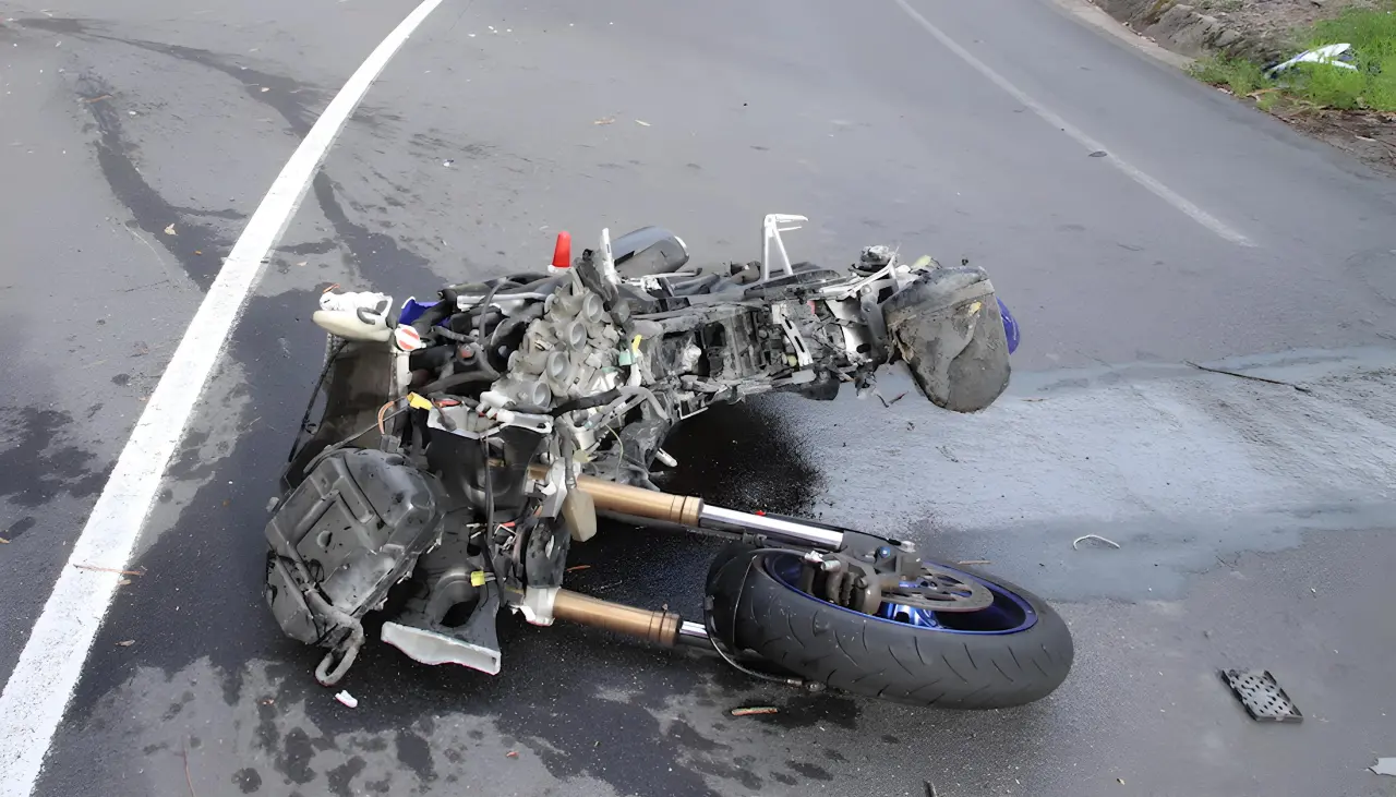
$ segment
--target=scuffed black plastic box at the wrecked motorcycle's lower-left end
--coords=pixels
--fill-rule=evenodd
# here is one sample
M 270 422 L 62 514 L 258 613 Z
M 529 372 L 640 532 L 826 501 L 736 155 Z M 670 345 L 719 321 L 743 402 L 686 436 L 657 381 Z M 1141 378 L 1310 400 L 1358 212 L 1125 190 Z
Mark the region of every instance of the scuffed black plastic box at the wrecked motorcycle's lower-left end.
M 334 645 L 339 625 L 318 599 L 353 618 L 377 609 L 436 542 L 444 508 L 436 479 L 401 456 L 346 449 L 318 462 L 267 523 L 265 597 L 282 631 Z

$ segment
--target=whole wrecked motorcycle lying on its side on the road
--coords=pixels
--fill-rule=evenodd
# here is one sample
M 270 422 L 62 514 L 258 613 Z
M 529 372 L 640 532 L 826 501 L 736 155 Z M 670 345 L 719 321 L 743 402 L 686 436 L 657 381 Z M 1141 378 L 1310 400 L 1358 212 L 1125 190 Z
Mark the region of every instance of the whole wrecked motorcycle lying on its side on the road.
M 328 649 L 320 683 L 352 666 L 370 611 L 391 611 L 381 641 L 417 662 L 498 673 L 508 607 L 907 703 L 1000 708 L 1057 688 L 1071 635 L 1027 590 L 907 540 L 655 486 L 676 466 L 669 433 L 720 402 L 832 399 L 892 363 L 953 412 L 1007 388 L 1018 328 L 983 269 L 881 246 L 845 272 L 792 264 L 780 233 L 803 221 L 766 216 L 748 264 L 694 268 L 659 228 L 603 230 L 574 260 L 563 233 L 546 271 L 434 301 L 322 295 L 325 363 L 265 530 L 265 599 L 289 636 Z M 568 550 L 599 518 L 729 537 L 704 616 L 564 589 Z

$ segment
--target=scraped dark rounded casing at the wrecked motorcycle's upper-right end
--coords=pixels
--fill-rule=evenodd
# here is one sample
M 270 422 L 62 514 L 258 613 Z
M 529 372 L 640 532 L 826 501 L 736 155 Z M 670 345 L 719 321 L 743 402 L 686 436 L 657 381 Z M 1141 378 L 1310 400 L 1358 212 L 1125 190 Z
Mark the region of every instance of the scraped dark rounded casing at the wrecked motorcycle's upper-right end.
M 882 303 L 891 346 L 935 406 L 979 412 L 1008 388 L 1008 338 L 981 268 L 941 267 Z

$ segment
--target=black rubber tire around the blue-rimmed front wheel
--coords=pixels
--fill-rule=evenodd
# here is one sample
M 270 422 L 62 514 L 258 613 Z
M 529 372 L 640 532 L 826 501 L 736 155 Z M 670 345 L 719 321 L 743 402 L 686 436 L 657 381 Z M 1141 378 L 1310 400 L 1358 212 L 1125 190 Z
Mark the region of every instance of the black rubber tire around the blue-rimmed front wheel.
M 1037 621 L 1013 634 L 951 634 L 860 614 L 792 589 L 764 567 L 769 556 L 790 554 L 754 553 L 740 596 L 709 596 L 709 604 L 736 604 L 727 641 L 736 649 L 808 681 L 900 703 L 997 709 L 1047 697 L 1071 670 L 1074 646 L 1061 616 L 1002 579 L 973 574 L 1016 593 Z M 720 589 L 709 579 L 713 588 Z

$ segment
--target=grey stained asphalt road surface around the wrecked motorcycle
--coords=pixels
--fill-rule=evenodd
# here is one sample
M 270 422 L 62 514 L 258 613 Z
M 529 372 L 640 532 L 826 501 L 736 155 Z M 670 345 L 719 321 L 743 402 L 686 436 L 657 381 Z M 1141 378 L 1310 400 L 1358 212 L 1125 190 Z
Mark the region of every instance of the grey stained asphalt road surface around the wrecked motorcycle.
M 221 258 L 415 3 L 121 6 L 0 14 L 0 678 Z M 1396 755 L 1392 198 L 1047 0 L 445 0 L 268 257 L 35 793 L 1396 794 L 1365 769 Z M 497 677 L 370 645 L 357 709 L 315 685 L 260 585 L 317 293 L 535 268 L 558 229 L 748 260 L 766 212 L 831 265 L 986 265 L 1015 384 L 973 417 L 711 412 L 676 489 L 988 560 L 1060 606 L 1067 684 L 913 710 L 505 620 Z M 711 551 L 613 529 L 575 586 L 692 613 Z M 1223 667 L 1275 673 L 1304 723 L 1249 720 Z

